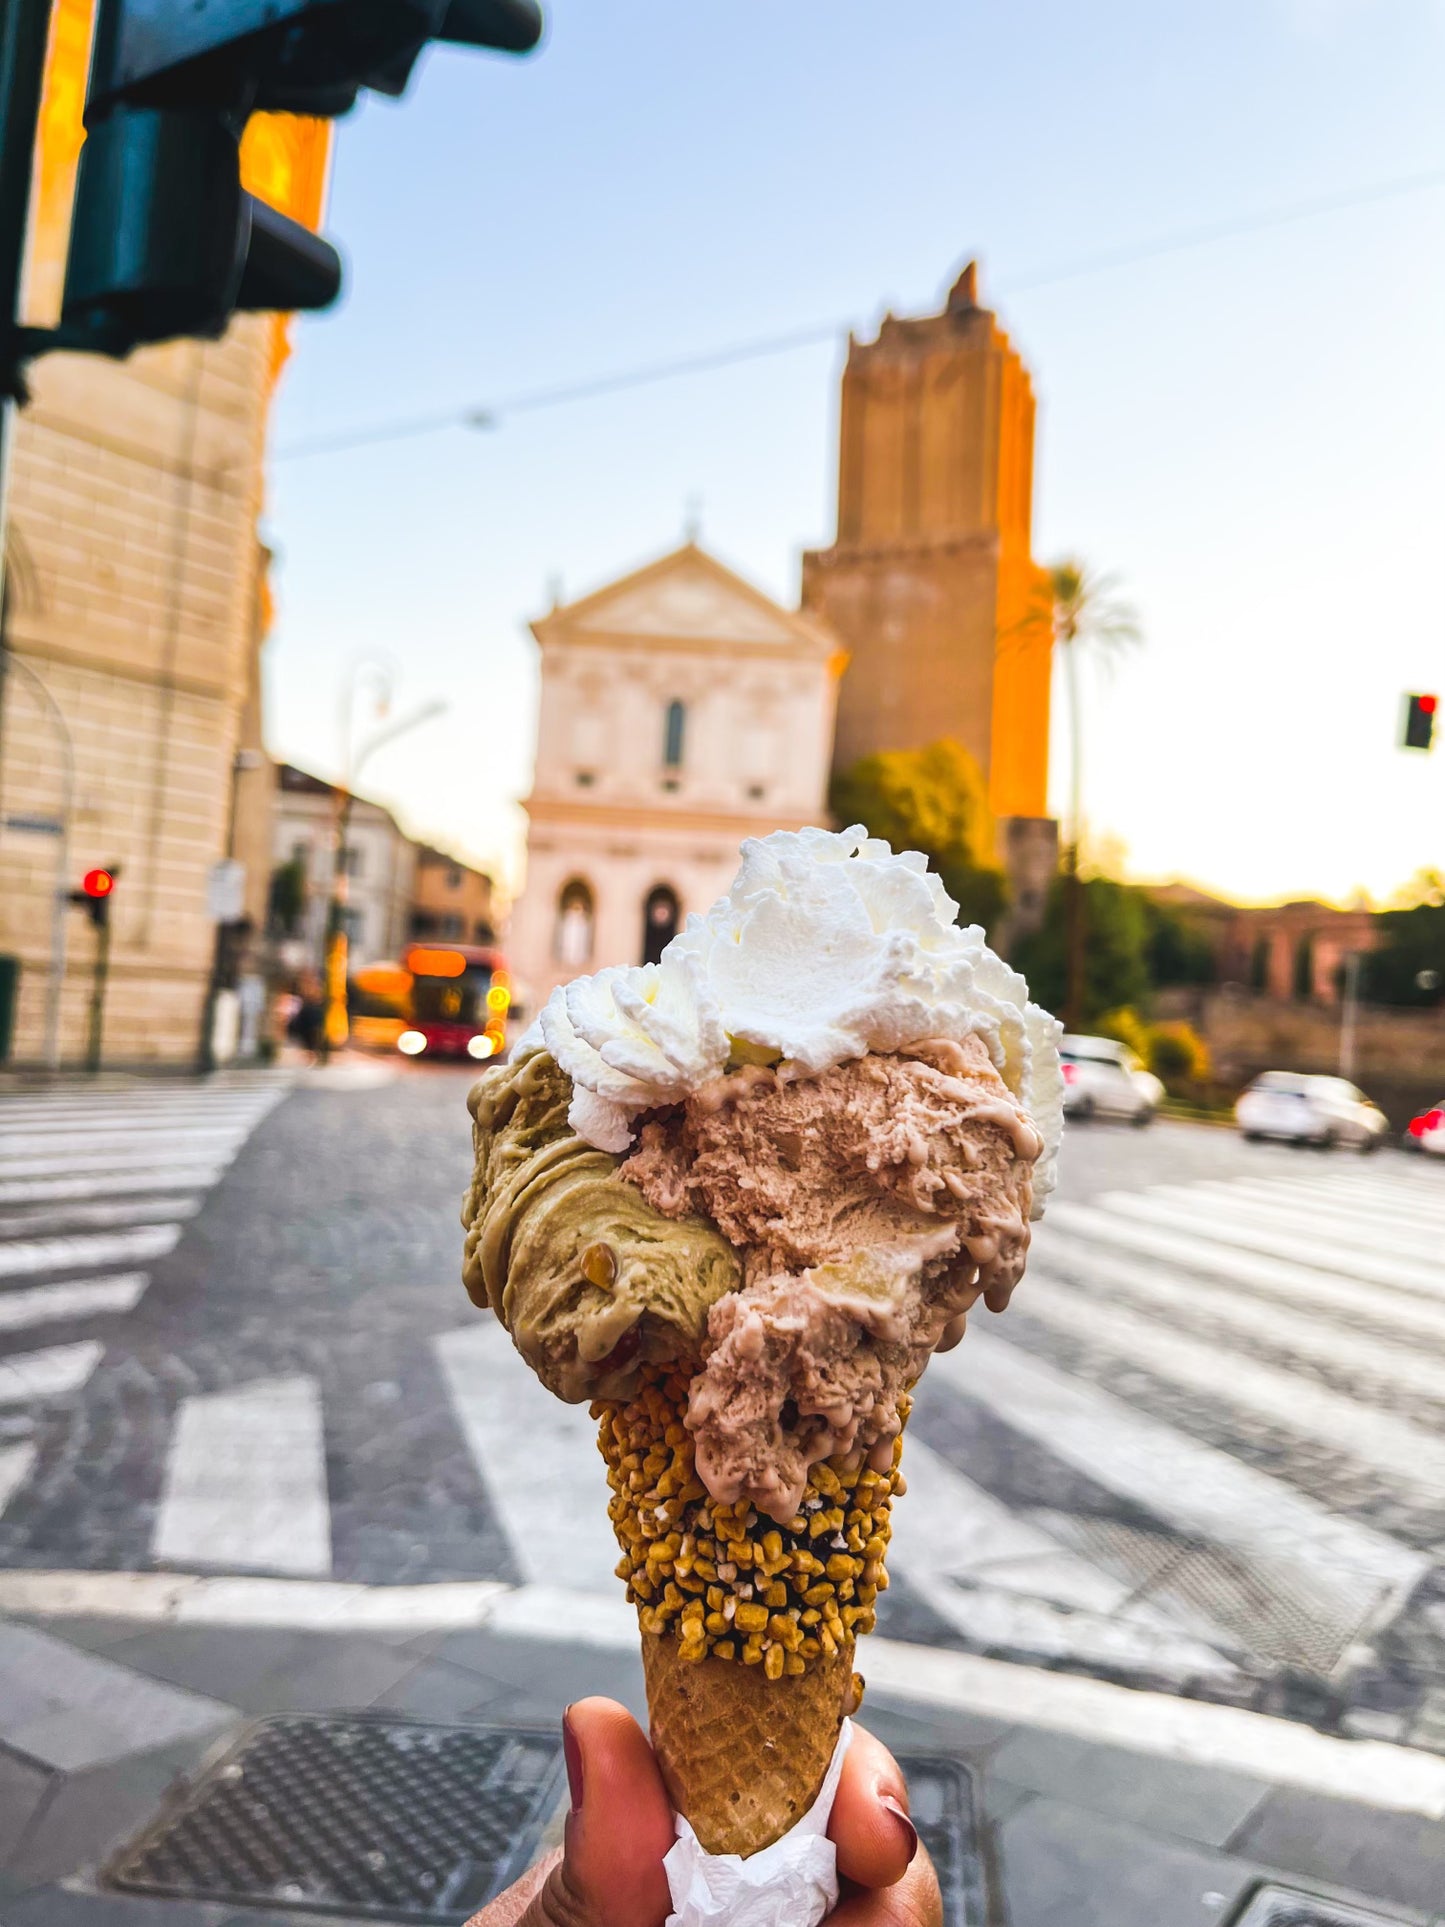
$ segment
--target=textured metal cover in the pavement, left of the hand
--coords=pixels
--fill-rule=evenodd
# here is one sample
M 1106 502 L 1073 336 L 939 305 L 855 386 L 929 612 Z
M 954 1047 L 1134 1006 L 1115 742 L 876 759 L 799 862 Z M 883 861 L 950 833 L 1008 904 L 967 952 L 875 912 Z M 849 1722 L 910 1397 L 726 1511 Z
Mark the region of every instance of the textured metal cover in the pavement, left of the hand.
M 555 1734 L 264 1719 L 110 1861 L 135 1894 L 451 1927 L 536 1858 Z

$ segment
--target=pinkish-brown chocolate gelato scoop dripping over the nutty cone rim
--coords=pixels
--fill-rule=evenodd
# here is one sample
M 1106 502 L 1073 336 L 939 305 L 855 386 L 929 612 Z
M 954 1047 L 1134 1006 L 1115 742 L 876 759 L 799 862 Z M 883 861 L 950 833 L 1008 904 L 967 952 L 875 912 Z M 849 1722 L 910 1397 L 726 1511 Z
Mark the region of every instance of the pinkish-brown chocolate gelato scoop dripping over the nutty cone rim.
M 688 1403 L 713 1497 L 786 1520 L 811 1465 L 890 1453 L 929 1355 L 975 1299 L 1008 1305 L 1040 1148 L 977 1039 L 817 1075 L 744 1066 L 644 1125 L 622 1175 L 744 1253 Z

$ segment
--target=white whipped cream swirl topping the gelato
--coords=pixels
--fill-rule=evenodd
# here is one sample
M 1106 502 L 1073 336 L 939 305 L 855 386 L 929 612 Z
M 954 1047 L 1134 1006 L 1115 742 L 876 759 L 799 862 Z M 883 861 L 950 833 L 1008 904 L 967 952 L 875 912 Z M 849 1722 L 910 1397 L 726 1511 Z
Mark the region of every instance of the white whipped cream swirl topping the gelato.
M 869 1050 L 981 1037 L 1044 1139 L 1038 1212 L 1064 1133 L 1062 1025 L 956 915 L 925 856 L 859 825 L 748 838 L 728 894 L 688 917 L 659 964 L 553 990 L 539 1033 L 572 1079 L 572 1129 L 622 1152 L 634 1118 L 738 1056 L 825 1071 Z

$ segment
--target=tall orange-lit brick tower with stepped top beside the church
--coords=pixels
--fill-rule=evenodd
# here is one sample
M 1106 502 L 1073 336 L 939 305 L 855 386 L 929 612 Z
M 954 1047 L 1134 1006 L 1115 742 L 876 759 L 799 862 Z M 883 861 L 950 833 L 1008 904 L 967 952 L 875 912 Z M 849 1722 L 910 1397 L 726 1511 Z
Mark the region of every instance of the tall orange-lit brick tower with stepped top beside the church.
M 1006 848 L 1010 819 L 1048 811 L 1033 432 L 1029 370 L 969 262 L 942 314 L 850 339 L 838 540 L 803 555 L 803 609 L 850 651 L 834 769 L 952 736 L 979 759 Z

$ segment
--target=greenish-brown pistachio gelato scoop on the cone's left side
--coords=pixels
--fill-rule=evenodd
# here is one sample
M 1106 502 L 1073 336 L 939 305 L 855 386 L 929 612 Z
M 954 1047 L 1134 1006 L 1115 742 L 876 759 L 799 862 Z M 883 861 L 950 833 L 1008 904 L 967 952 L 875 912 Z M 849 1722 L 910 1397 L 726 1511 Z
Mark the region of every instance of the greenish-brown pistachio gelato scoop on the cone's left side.
M 626 1399 L 644 1364 L 696 1360 L 742 1260 L 701 1218 L 663 1216 L 566 1120 L 545 1050 L 482 1073 L 466 1100 L 476 1166 L 462 1280 L 538 1378 L 572 1405 Z

